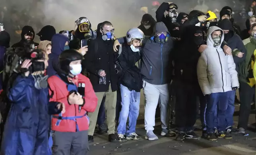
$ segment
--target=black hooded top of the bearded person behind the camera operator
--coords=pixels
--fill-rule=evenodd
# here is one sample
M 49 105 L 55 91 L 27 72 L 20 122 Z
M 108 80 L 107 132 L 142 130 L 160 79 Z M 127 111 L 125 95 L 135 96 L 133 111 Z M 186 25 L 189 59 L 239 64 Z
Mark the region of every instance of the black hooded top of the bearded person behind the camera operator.
M 38 43 L 33 42 L 33 40 L 34 40 L 34 38 L 35 38 L 35 31 L 34 31 L 34 29 L 33 29 L 31 26 L 24 26 L 24 27 L 22 28 L 22 32 L 21 32 L 21 40 L 20 40 L 19 42 L 15 43 L 14 45 L 12 45 L 12 47 L 13 47 L 13 48 L 16 48 L 16 47 L 23 47 L 23 46 L 24 46 L 24 43 L 27 42 L 27 41 L 25 40 L 25 34 L 30 33 L 30 32 L 32 32 L 32 33 L 34 34 L 32 40 L 30 41 L 30 43 L 31 43 L 31 44 L 34 43 L 35 46 L 38 46 L 38 45 L 39 45 Z

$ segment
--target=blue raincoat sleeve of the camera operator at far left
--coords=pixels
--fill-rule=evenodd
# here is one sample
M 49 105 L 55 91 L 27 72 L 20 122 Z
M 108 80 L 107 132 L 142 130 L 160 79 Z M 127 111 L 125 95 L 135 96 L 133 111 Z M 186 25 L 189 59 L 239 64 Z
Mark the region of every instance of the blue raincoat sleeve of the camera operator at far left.
M 21 101 L 29 93 L 27 89 L 30 83 L 31 79 L 19 75 L 7 93 L 9 100 L 14 103 Z

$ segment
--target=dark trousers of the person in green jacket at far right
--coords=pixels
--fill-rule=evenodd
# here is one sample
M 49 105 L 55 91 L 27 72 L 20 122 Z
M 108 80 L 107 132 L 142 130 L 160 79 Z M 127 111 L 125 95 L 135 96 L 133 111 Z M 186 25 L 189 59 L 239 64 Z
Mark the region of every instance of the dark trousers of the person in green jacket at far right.
M 249 115 L 251 111 L 252 97 L 255 98 L 255 87 L 250 87 L 245 82 L 240 82 L 240 112 L 238 120 L 238 128 L 247 129 Z

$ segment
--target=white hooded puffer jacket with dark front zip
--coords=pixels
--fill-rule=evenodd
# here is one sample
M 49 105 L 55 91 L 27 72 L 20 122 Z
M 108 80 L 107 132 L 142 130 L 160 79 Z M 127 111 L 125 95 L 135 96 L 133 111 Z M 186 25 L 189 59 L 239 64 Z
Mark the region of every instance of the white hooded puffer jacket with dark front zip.
M 231 55 L 225 55 L 221 45 L 214 47 L 211 34 L 215 30 L 221 30 L 217 26 L 211 26 L 207 33 L 207 48 L 201 53 L 197 64 L 197 75 L 200 88 L 204 95 L 211 93 L 223 93 L 231 91 L 233 87 L 239 87 L 235 62 Z M 224 32 L 221 30 L 221 43 L 224 40 Z

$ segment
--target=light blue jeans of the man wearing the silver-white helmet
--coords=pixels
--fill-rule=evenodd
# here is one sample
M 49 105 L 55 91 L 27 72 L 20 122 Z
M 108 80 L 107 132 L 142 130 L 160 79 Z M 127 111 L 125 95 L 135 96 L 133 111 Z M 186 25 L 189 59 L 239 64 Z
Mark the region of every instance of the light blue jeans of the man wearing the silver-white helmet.
M 117 134 L 130 134 L 135 132 L 137 118 L 140 110 L 140 92 L 130 91 L 124 85 L 120 85 L 122 109 L 119 115 Z M 129 117 L 128 130 L 126 122 Z

